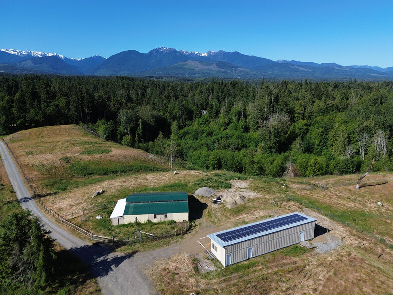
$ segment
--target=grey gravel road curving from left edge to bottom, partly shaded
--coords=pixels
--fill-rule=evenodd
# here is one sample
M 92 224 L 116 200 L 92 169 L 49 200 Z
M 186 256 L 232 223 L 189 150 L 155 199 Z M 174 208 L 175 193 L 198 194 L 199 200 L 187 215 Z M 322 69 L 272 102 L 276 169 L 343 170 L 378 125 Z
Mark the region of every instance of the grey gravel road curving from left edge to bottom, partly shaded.
M 75 253 L 82 261 L 91 266 L 91 272 L 98 279 L 103 294 L 157 293 L 154 285 L 141 270 L 141 267 L 151 263 L 155 257 L 165 258 L 173 255 L 176 247 L 135 255 L 123 255 L 111 252 L 104 245 L 88 244 L 52 222 L 38 208 L 2 141 L 0 141 L 0 155 L 21 206 L 40 217 L 45 228 L 51 231 L 51 236 L 60 245 Z

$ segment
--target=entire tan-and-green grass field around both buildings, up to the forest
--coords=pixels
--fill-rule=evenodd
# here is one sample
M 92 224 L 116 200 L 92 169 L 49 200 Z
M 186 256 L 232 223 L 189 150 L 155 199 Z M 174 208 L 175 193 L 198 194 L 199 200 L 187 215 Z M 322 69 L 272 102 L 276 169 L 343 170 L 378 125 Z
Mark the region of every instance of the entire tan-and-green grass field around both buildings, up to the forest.
M 49 136 L 49 137 L 48 137 Z M 111 203 L 133 192 L 178 191 L 193 194 L 209 186 L 220 194 L 229 191 L 247 196 L 244 204 L 229 209 L 213 205 L 211 197 L 196 197 L 191 211 L 200 211 L 198 225 L 180 239 L 137 245 L 125 251 L 151 249 L 193 240 L 205 231 L 231 228 L 290 213 L 304 212 L 318 219 L 342 246 L 331 253 L 304 250 L 294 245 L 239 264 L 201 274 L 187 247 L 170 259 L 157 261 L 149 272 L 157 289 L 164 294 L 391 294 L 393 290 L 393 174 L 371 173 L 356 190 L 357 175 L 318 178 L 245 177 L 224 171 L 206 172 L 178 169 L 173 175 L 166 162 L 141 150 L 105 142 L 77 126 L 38 128 L 11 135 L 5 140 L 32 180 L 42 200 L 62 215 L 93 205 Z M 76 173 L 77 167 L 98 171 L 112 165 L 140 165 L 142 171 L 104 170 Z M 101 165 L 101 166 L 100 166 Z M 84 168 L 89 171 L 89 168 Z M 148 167 L 148 168 L 146 168 Z M 154 168 L 154 169 L 150 169 Z M 94 170 L 93 169 L 93 170 Z M 150 169 L 150 170 L 149 170 Z M 176 167 L 177 170 L 177 167 Z M 95 198 L 100 189 L 105 192 Z M 7 189 L 5 189 L 7 191 Z M 1 191 L 1 188 L 0 188 Z M 274 200 L 274 202 L 273 202 Z M 381 202 L 382 206 L 376 203 Z M 277 205 L 276 205 L 276 204 Z M 84 227 L 108 235 L 135 236 L 134 225 L 112 227 L 111 208 L 98 211 Z M 104 219 L 95 220 L 101 214 Z M 146 225 L 146 231 L 169 230 L 172 225 Z M 125 236 L 127 238 L 127 236 Z M 192 242 L 192 243 L 191 243 Z

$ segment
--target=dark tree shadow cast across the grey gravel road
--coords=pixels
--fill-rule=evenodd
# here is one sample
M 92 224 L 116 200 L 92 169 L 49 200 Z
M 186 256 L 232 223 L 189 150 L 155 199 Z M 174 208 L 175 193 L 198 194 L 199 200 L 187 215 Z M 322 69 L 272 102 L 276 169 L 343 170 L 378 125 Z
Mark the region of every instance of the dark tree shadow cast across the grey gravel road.
M 90 271 L 95 277 L 107 276 L 109 272 L 118 267 L 124 260 L 132 257 L 136 253 L 122 254 L 112 252 L 110 246 L 103 244 L 74 247 L 69 251 L 78 256 L 85 264 L 89 265 Z

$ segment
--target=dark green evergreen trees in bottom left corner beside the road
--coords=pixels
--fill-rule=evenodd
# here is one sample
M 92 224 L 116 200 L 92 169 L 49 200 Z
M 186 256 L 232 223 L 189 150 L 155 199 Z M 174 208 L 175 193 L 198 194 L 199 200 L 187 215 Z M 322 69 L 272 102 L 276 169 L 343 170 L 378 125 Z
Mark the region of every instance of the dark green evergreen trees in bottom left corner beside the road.
M 29 211 L 12 212 L 0 221 L 0 286 L 5 293 L 39 293 L 55 280 L 54 241 L 48 234 Z

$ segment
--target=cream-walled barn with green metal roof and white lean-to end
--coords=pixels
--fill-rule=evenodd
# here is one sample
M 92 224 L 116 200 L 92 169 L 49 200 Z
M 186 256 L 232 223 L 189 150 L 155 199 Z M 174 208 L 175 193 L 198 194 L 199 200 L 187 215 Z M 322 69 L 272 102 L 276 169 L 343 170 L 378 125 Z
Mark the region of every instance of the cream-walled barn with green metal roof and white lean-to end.
M 113 225 L 135 221 L 188 221 L 186 192 L 133 193 L 117 202 L 110 219 Z

